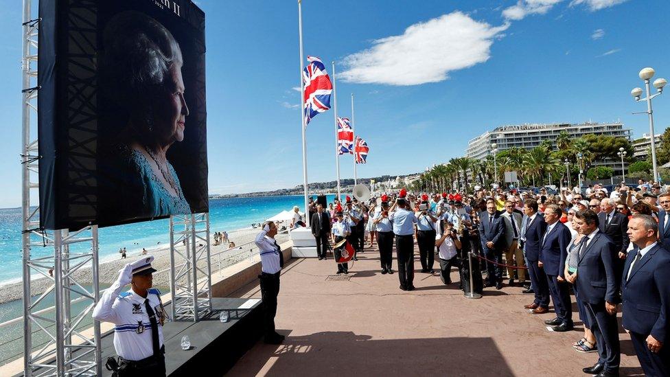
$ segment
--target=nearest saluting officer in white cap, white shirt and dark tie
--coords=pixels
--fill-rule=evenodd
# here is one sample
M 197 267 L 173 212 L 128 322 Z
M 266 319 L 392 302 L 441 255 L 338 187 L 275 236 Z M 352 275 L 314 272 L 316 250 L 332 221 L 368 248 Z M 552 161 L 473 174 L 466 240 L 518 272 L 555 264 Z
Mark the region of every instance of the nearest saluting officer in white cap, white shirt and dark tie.
M 161 293 L 152 288 L 152 255 L 126 264 L 116 282 L 102 294 L 93 319 L 115 324 L 114 349 L 108 358 L 113 376 L 165 376 L 163 323 L 167 317 Z M 130 290 L 121 292 L 130 283 Z

